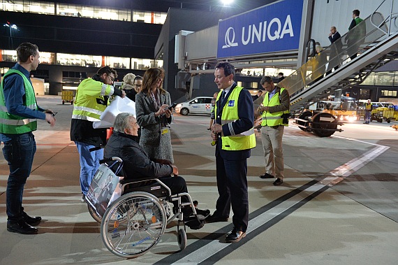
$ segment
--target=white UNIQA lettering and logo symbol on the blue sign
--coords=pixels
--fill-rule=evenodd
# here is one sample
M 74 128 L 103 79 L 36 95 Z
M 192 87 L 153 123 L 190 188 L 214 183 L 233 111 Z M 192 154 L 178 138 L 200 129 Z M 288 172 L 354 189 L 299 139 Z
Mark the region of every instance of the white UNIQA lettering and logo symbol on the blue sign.
M 274 32 L 271 32 L 272 27 L 277 27 Z M 257 41 L 265 42 L 267 38 L 270 41 L 275 41 L 279 38 L 283 38 L 286 34 L 289 34 L 290 37 L 294 36 L 292 20 L 290 19 L 290 15 L 286 16 L 286 20 L 283 24 L 278 17 L 274 17 L 269 23 L 267 21 L 260 22 L 258 26 L 256 24 L 249 25 L 249 29 L 246 34 L 246 27 L 242 27 L 242 44 L 248 45 L 249 43 L 254 43 Z M 226 44 L 223 45 L 223 49 L 235 47 L 238 43 L 235 42 L 235 29 L 233 27 L 228 27 L 225 36 Z

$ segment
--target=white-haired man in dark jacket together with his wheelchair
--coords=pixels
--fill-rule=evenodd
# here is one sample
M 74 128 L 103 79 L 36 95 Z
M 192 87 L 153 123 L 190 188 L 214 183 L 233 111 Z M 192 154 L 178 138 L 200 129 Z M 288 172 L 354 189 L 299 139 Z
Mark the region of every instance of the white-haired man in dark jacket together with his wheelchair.
M 121 257 L 136 257 L 147 252 L 175 217 L 178 218 L 179 248 L 183 250 L 186 233 L 185 228 L 179 229 L 180 222 L 184 227 L 200 229 L 210 213 L 196 208 L 197 202 L 189 196 L 184 178 L 177 176 L 177 166 L 149 159 L 137 143 L 138 128 L 131 113 L 120 113 L 105 147 L 104 160 L 108 160 L 105 165 L 124 178 L 120 180 L 122 196 L 109 203 L 108 208 L 105 206 L 105 213 L 100 213 L 101 236 L 108 250 Z M 96 176 L 105 172 L 98 173 L 100 169 Z M 168 203 L 173 204 L 174 215 Z

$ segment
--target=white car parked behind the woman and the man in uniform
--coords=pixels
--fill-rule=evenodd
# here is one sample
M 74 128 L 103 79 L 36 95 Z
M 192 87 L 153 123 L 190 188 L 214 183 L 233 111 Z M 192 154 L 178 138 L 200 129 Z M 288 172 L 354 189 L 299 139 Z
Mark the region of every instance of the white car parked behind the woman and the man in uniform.
M 175 112 L 181 115 L 192 114 L 210 114 L 212 112 L 212 96 L 198 96 L 195 99 L 189 99 L 177 104 Z

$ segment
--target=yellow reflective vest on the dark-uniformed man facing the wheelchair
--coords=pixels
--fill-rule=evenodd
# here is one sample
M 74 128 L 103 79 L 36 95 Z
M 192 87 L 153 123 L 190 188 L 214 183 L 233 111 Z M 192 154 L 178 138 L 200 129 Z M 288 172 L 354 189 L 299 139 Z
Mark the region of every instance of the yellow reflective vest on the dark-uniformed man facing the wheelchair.
M 235 87 L 228 97 L 228 103 L 223 108 L 223 114 L 221 115 L 221 125 L 228 124 L 239 120 L 237 102 L 239 94 L 243 87 Z M 222 93 L 217 96 L 219 100 Z M 214 113 L 217 113 L 217 104 L 214 107 Z M 223 150 L 237 151 L 247 150 L 256 147 L 256 136 L 254 135 L 254 129 L 251 128 L 249 131 L 244 131 L 241 134 L 231 136 L 221 136 Z

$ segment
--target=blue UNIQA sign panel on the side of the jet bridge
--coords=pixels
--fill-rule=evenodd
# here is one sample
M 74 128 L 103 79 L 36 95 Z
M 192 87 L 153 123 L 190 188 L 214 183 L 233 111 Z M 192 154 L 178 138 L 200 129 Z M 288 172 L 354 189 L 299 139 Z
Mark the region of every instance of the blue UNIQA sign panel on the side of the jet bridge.
M 219 22 L 217 57 L 298 49 L 303 0 L 285 0 Z

